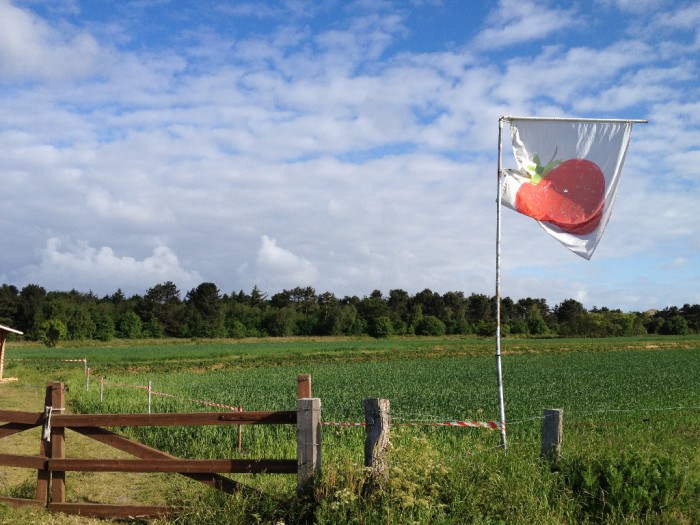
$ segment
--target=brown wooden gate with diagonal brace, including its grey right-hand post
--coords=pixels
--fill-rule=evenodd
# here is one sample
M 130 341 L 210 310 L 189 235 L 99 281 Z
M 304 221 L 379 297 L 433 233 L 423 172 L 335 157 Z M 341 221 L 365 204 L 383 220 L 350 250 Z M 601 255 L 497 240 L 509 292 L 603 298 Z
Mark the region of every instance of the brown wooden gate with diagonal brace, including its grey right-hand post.
M 300 376 L 301 378 L 302 376 Z M 40 506 L 49 511 L 94 517 L 154 517 L 182 509 L 159 505 L 108 505 L 66 502 L 67 472 L 170 472 L 187 476 L 211 487 L 233 492 L 241 485 L 221 474 L 297 474 L 300 492 L 308 490 L 321 469 L 321 422 L 319 399 L 311 398 L 310 378 L 296 411 L 195 412 L 184 414 L 64 414 L 64 385 L 46 386 L 44 412 L 0 410 L 0 438 L 41 426 L 37 456 L 0 454 L 0 466 L 36 469 L 34 499 L 0 497 L 12 506 Z M 308 388 L 307 385 L 308 384 Z M 300 393 L 302 390 L 300 390 Z M 296 459 L 181 459 L 116 434 L 104 427 L 202 426 L 202 425 L 296 425 Z M 65 457 L 65 430 L 70 429 L 139 459 L 89 459 Z

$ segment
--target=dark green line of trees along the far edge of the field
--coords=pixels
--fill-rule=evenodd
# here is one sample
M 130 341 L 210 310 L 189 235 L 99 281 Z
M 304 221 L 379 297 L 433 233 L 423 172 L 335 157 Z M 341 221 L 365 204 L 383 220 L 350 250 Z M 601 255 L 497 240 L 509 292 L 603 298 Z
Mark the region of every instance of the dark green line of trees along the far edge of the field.
M 496 299 L 429 289 L 410 295 L 375 290 L 368 296 L 338 298 L 311 287 L 269 296 L 222 294 L 216 284 L 201 283 L 184 298 L 168 281 L 145 295 L 126 297 L 121 289 L 97 297 L 76 290 L 49 291 L 36 284 L 21 290 L 0 286 L 0 324 L 24 332 L 29 340 L 52 346 L 61 340 L 136 338 L 243 338 L 284 336 L 446 335 L 491 336 L 496 330 Z M 700 305 L 648 312 L 608 308 L 587 310 L 575 299 L 550 307 L 545 299 L 501 300 L 504 336 L 613 337 L 700 333 Z

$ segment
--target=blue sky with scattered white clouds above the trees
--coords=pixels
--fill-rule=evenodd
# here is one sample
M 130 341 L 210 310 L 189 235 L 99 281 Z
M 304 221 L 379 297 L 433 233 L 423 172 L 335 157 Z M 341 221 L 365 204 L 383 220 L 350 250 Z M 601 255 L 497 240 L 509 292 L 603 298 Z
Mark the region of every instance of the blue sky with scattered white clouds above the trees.
M 700 303 L 699 59 L 693 0 L 0 0 L 0 282 L 492 295 L 498 118 L 576 116 L 650 123 L 503 294 Z

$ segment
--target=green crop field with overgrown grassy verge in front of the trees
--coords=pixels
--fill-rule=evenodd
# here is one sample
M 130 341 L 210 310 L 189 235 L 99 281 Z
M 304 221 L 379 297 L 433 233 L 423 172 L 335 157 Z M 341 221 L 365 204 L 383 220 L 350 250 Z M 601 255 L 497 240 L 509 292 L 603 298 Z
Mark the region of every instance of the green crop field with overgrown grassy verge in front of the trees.
M 390 400 L 383 490 L 363 490 L 364 430 L 324 426 L 313 502 L 296 498 L 293 476 L 238 476 L 263 495 L 236 496 L 173 479 L 172 503 L 193 508 L 178 523 L 700 522 L 700 337 L 509 339 L 503 354 L 507 451 L 498 431 L 431 424 L 498 419 L 488 339 L 10 345 L 6 375 L 65 381 L 77 412 L 145 412 L 145 391 L 125 385 L 149 380 L 174 396 L 153 396 L 155 412 L 290 410 L 302 373 L 326 422 L 363 421 L 365 398 Z M 41 360 L 56 358 L 86 359 L 90 390 L 81 364 Z M 539 458 L 545 408 L 564 410 L 554 463 Z M 182 457 L 295 457 L 293 427 L 244 427 L 241 451 L 235 427 L 124 432 Z

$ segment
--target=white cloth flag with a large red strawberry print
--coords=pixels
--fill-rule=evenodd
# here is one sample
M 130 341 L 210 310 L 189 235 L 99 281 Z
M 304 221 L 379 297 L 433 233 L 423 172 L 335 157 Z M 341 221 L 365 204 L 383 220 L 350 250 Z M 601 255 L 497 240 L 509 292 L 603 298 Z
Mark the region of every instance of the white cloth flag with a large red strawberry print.
M 632 122 L 509 120 L 517 169 L 504 171 L 503 204 L 590 259 L 610 218 Z

